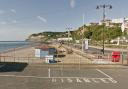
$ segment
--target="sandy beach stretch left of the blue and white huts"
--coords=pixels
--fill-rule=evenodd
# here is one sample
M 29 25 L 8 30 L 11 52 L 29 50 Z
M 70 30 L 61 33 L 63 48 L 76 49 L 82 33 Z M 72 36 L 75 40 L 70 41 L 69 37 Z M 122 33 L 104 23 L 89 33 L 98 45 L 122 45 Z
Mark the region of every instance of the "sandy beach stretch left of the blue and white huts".
M 1 53 L 0 56 L 1 62 L 42 62 L 40 58 L 35 57 L 35 47 L 11 49 Z

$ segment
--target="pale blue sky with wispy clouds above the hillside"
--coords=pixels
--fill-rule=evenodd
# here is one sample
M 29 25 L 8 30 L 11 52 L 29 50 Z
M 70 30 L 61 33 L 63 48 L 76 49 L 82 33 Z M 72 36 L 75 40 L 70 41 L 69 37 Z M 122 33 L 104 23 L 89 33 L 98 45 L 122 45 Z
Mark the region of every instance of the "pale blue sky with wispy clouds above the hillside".
M 25 40 L 30 34 L 44 31 L 75 30 L 84 23 L 99 22 L 102 9 L 106 18 L 128 17 L 128 0 L 0 0 L 0 41 Z

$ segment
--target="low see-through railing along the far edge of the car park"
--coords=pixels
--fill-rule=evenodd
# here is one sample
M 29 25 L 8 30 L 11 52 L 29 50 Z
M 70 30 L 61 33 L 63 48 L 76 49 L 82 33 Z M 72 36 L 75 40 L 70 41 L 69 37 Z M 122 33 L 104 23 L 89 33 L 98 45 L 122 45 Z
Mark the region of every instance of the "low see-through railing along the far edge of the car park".
M 119 64 L 119 65 L 128 65 L 128 55 L 121 54 L 119 61 L 112 58 L 112 54 L 100 55 L 100 54 L 81 54 L 73 53 L 67 54 L 63 57 L 56 57 L 55 64 Z M 37 58 L 37 57 L 15 57 L 15 56 L 0 56 L 0 62 L 24 62 L 24 63 L 46 63 L 46 58 Z

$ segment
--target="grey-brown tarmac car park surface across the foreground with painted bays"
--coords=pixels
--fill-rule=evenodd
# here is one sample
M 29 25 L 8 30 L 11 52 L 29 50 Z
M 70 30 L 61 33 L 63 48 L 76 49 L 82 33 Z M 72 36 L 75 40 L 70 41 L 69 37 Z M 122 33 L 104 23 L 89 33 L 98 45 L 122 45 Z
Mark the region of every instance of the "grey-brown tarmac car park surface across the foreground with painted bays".
M 126 66 L 127 67 L 127 66 Z M 127 68 L 0 64 L 0 89 L 127 89 Z

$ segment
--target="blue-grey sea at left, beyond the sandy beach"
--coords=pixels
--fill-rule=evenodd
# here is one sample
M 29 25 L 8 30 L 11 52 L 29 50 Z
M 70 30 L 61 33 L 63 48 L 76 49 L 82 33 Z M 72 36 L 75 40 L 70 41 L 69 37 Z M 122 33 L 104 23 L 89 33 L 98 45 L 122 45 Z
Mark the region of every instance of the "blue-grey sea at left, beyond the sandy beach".
M 0 52 L 4 52 L 14 48 L 29 46 L 31 44 L 32 42 L 27 41 L 0 41 Z

